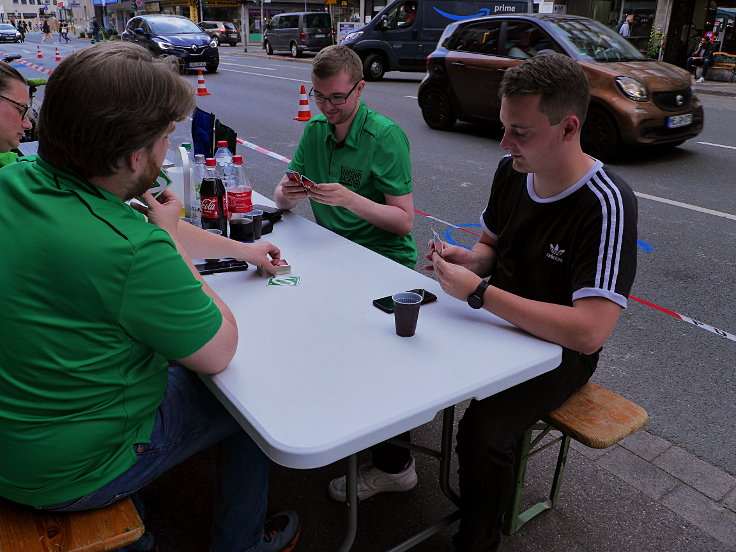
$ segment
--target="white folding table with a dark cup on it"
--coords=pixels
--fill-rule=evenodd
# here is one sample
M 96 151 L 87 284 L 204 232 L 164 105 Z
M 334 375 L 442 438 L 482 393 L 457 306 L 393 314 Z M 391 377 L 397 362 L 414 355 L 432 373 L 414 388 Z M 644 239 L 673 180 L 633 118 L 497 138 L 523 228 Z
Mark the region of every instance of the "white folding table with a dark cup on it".
M 435 455 L 449 489 L 452 407 L 551 370 L 561 348 L 294 213 L 263 239 L 281 249 L 299 284 L 270 286 L 254 269 L 207 276 L 235 315 L 240 341 L 230 366 L 203 379 L 274 462 L 304 469 L 349 459 L 348 534 L 340 547 L 347 551 L 357 529 L 358 452 L 447 409 L 443 451 Z M 414 288 L 439 299 L 421 307 L 416 335 L 402 338 L 393 316 L 372 300 Z

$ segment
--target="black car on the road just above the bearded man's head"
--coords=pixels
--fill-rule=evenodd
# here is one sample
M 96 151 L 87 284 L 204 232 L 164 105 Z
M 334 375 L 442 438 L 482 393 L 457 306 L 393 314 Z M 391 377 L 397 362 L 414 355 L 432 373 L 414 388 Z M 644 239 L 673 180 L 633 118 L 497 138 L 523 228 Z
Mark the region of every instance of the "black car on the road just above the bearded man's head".
M 217 71 L 217 44 L 197 25 L 179 15 L 141 15 L 128 21 L 121 35 L 157 56 L 176 56 L 182 71 L 204 68 Z

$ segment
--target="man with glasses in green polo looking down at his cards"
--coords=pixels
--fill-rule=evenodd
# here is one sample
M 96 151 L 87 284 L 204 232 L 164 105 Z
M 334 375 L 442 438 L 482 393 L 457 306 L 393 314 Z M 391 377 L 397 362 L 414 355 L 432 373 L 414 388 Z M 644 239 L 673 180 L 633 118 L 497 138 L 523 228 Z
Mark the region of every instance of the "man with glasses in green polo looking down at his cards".
M 314 58 L 309 96 L 322 114 L 307 123 L 289 169 L 316 185 L 305 188 L 284 176 L 274 201 L 292 209 L 309 198 L 318 224 L 413 269 L 409 141 L 396 123 L 368 109 L 362 76 L 360 58 L 346 46 L 328 46 Z M 358 498 L 417 484 L 408 450 L 381 443 L 372 453 L 373 464 L 359 470 Z M 329 492 L 345 502 L 345 477 L 333 480 Z

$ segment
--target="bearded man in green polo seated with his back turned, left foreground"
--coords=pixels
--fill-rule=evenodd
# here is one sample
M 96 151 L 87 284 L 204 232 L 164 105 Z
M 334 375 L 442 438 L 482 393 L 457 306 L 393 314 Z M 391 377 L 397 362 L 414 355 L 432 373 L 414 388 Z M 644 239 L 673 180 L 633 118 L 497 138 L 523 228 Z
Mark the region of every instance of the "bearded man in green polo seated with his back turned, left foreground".
M 193 109 L 176 65 L 140 46 L 77 50 L 49 79 L 39 155 L 0 169 L 0 497 L 100 508 L 219 444 L 210 550 L 288 552 L 298 519 L 265 521 L 268 458 L 197 375 L 227 367 L 238 328 L 191 260 L 279 251 L 239 250 L 149 191 Z

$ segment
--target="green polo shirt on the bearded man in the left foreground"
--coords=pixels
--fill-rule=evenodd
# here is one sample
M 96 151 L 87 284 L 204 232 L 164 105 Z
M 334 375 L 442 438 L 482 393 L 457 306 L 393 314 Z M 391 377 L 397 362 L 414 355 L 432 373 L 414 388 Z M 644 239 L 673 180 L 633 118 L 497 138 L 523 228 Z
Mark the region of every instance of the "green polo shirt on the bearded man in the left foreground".
M 0 496 L 95 491 L 149 442 L 167 359 L 219 309 L 162 229 L 117 196 L 26 157 L 0 169 Z

